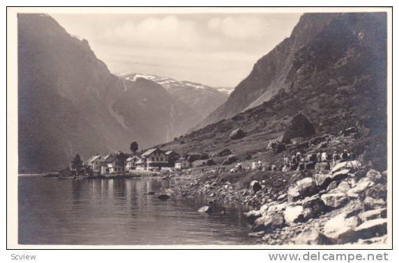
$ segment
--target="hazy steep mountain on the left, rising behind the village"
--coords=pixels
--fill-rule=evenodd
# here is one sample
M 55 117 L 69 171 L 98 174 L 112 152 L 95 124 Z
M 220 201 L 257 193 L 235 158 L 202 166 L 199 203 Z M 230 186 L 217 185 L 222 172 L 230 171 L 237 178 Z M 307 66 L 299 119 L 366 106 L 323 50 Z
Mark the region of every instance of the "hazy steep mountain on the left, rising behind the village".
M 79 153 L 169 141 L 201 120 L 159 84 L 111 74 L 52 17 L 18 15 L 19 172 L 58 170 Z

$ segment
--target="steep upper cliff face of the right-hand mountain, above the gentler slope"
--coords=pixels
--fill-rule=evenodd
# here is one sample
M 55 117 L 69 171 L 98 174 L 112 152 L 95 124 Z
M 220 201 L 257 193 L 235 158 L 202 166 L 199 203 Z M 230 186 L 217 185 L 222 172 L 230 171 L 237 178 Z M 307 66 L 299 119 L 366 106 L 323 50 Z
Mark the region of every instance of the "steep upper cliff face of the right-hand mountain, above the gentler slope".
M 237 113 L 258 106 L 276 95 L 279 90 L 290 92 L 292 88 L 299 85 L 295 76 L 304 75 L 305 70 L 312 70 L 314 74 L 329 72 L 330 75 L 338 75 L 339 72 L 348 68 L 350 72 L 353 72 L 354 70 L 350 68 L 352 66 L 350 61 L 347 63 L 341 61 L 343 65 L 339 65 L 339 67 L 329 64 L 320 67 L 320 65 L 324 64 L 324 59 L 330 59 L 330 63 L 336 63 L 341 58 L 354 60 L 359 55 L 366 56 L 361 53 L 368 51 L 361 50 L 361 46 L 365 46 L 365 41 L 368 40 L 360 41 L 357 38 L 361 37 L 359 34 L 362 34 L 362 30 L 368 31 L 366 35 L 368 39 L 373 38 L 375 33 L 381 35 L 382 32 L 368 29 L 367 26 L 382 19 L 384 19 L 382 13 L 309 13 L 302 15 L 290 38 L 286 38 L 269 54 L 260 58 L 253 66 L 249 76 L 235 88 L 227 102 L 211 113 L 197 127 L 205 127 L 212 122 L 231 118 Z M 359 47 L 359 49 L 355 49 L 355 47 Z M 368 47 L 373 49 L 373 47 Z M 308 50 L 308 57 L 304 58 L 302 56 L 306 49 L 311 50 Z M 319 56 L 315 56 L 315 51 L 319 52 Z M 306 59 L 318 61 L 318 65 L 312 65 L 311 69 L 300 68 L 299 61 L 306 61 Z M 359 67 L 359 65 L 356 66 Z

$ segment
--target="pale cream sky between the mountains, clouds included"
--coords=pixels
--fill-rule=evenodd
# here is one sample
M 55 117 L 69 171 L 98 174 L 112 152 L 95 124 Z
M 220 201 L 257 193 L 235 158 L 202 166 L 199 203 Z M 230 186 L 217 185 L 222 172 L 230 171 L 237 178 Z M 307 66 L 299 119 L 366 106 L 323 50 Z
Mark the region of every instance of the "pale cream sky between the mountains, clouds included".
M 112 73 L 235 87 L 284 38 L 297 13 L 49 14 L 88 40 Z

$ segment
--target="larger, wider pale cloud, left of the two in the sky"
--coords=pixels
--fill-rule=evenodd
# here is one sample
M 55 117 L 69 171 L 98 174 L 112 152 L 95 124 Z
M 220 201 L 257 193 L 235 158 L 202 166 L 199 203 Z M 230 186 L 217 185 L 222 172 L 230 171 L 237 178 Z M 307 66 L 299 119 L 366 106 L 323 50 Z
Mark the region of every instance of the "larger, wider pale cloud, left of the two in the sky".
M 135 47 L 194 49 L 201 45 L 214 45 L 204 41 L 195 22 L 174 15 L 148 17 L 140 22 L 126 21 L 109 29 L 104 39 L 129 43 Z

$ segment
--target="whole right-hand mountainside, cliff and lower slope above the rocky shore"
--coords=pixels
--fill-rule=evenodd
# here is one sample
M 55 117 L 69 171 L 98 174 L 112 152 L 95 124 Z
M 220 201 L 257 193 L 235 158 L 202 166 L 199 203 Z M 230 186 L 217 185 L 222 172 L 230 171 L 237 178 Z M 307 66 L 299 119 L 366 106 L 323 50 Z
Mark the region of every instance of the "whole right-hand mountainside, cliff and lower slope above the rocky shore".
M 338 136 L 357 127 L 362 132 L 355 141 L 331 141 L 336 146 L 327 150 L 345 147 L 384 170 L 386 38 L 385 13 L 304 14 L 290 38 L 260 58 L 203 128 L 161 146 L 211 156 L 229 149 L 241 160 L 259 157 L 272 164 L 282 156 L 267 150 L 268 140 L 281 140 L 293 116 L 302 112 L 315 136 Z M 230 140 L 238 128 L 247 136 Z

